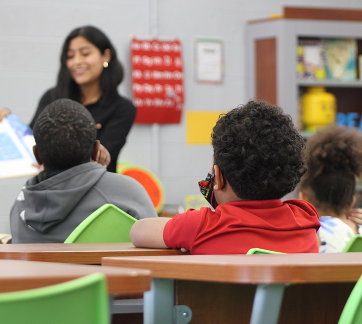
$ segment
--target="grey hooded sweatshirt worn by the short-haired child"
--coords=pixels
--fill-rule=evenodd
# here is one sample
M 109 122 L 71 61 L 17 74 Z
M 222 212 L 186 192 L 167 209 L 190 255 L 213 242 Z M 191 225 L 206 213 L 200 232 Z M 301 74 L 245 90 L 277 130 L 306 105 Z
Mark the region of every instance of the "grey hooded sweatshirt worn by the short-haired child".
M 87 216 L 108 203 L 137 219 L 157 217 L 139 182 L 94 162 L 38 179 L 26 182 L 11 209 L 13 243 L 63 242 Z

